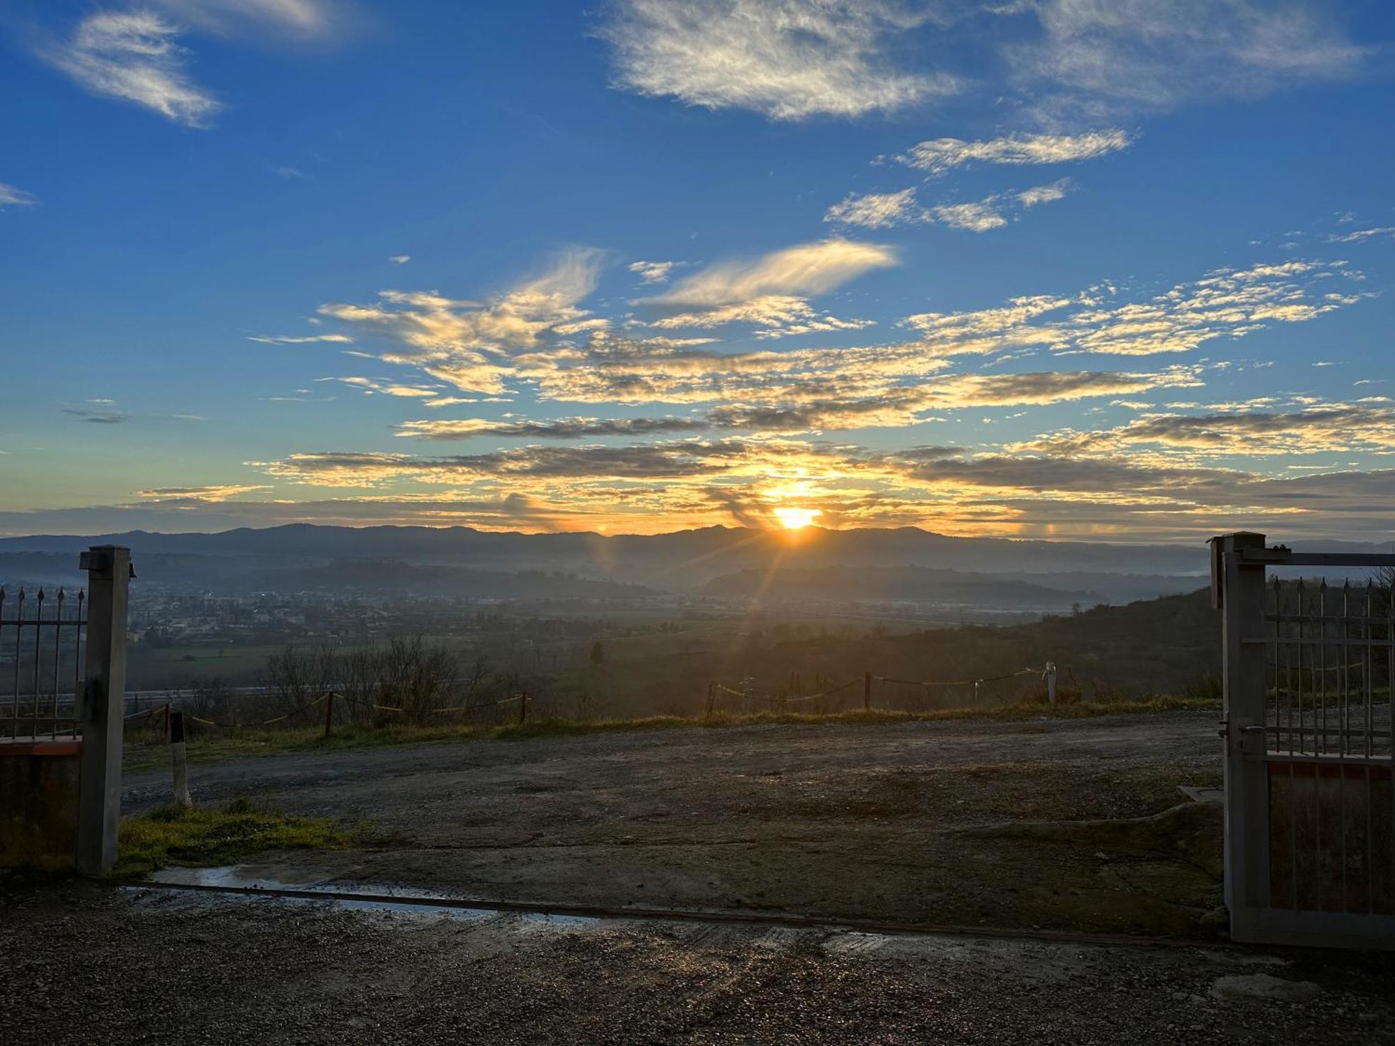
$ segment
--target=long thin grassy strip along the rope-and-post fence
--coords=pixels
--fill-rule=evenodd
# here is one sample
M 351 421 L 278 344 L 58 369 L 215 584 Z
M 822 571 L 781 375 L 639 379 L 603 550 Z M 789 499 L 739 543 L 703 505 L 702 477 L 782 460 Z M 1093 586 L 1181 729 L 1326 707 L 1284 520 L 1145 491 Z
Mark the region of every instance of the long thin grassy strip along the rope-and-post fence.
M 1091 702 L 1074 704 L 1009 704 L 979 708 L 937 708 L 935 711 L 870 711 L 798 713 L 767 711 L 752 714 L 717 713 L 711 718 L 688 715 L 647 715 L 628 720 L 536 720 L 502 725 L 441 724 L 413 725 L 342 725 L 325 739 L 324 728 L 306 727 L 280 731 L 239 731 L 234 736 L 199 734 L 188 741 L 190 760 L 212 763 L 236 756 L 271 755 L 275 752 L 332 752 L 353 748 L 384 748 L 389 745 L 428 745 L 466 741 L 522 741 L 526 738 L 576 736 L 585 734 L 618 734 L 657 729 L 721 729 L 760 724 L 836 725 L 876 722 L 936 722 L 942 720 L 986 720 L 1020 722 L 1024 720 L 1078 720 L 1095 715 L 1149 714 L 1162 711 L 1209 711 L 1219 704 L 1205 697 L 1148 697 L 1134 702 Z M 169 764 L 169 748 L 158 736 L 131 738 L 126 746 L 126 770 L 151 770 Z

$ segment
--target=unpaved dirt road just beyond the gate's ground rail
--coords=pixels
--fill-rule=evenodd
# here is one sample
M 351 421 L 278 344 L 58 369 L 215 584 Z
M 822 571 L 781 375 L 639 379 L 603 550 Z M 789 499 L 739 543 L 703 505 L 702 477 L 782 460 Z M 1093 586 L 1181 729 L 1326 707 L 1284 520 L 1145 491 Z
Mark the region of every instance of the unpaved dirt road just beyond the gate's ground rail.
M 1179 784 L 1216 784 L 1214 713 L 693 728 L 268 756 L 191 777 L 195 802 L 252 796 L 393 840 L 244 869 L 283 883 L 1162 934 L 1219 904 L 1218 808 L 1089 845 L 1018 830 L 1154 814 Z M 127 781 L 128 810 L 167 798 L 165 774 Z

